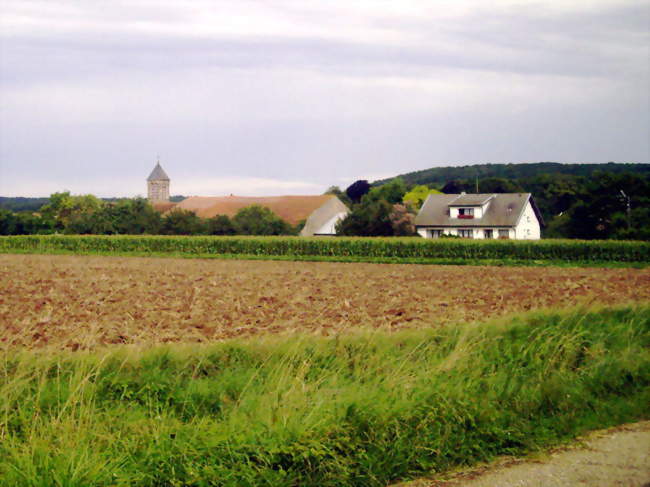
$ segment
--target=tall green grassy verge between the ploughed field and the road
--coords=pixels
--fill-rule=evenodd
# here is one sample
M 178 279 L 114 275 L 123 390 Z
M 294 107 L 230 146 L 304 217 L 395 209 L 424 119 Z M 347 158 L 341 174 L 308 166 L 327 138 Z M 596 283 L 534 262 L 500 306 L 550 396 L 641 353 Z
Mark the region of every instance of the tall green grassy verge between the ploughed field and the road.
M 6 486 L 384 486 L 650 416 L 650 306 L 3 352 Z

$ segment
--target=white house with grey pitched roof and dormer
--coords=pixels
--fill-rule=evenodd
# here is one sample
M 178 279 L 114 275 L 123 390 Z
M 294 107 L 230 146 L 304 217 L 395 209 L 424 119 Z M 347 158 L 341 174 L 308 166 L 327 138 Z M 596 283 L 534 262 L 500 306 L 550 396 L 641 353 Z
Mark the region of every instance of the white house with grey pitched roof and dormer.
M 415 228 L 425 238 L 535 240 L 542 225 L 530 193 L 431 194 L 415 217 Z

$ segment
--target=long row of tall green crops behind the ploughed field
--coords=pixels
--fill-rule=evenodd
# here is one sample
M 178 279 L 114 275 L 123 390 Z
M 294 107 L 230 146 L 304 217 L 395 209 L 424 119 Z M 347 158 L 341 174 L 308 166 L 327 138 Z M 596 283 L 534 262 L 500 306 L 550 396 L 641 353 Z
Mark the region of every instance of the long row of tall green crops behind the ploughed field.
M 616 240 L 426 240 L 421 238 L 19 235 L 0 252 L 184 253 L 396 259 L 650 262 L 650 242 Z

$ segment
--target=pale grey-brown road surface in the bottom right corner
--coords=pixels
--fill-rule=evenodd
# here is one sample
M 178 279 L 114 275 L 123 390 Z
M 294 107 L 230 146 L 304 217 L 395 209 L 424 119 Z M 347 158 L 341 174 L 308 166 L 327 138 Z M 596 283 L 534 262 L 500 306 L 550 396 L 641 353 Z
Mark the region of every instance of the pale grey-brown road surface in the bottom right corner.
M 650 487 L 650 421 L 590 433 L 527 459 L 502 458 L 394 487 Z

